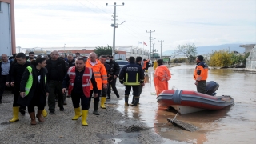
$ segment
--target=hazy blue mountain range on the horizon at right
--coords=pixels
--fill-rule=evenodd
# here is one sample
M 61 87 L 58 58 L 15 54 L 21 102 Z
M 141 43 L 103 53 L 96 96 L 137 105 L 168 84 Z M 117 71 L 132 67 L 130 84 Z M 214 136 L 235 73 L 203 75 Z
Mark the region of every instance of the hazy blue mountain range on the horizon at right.
M 218 50 L 229 50 L 229 51 L 237 51 L 238 53 L 244 53 L 245 48 L 239 47 L 240 44 L 224 44 L 224 45 L 218 45 L 218 46 L 198 46 L 197 51 L 198 55 L 204 55 L 204 54 L 211 54 L 212 51 L 218 51 Z M 162 52 L 162 56 L 174 56 L 174 50 L 167 50 Z

